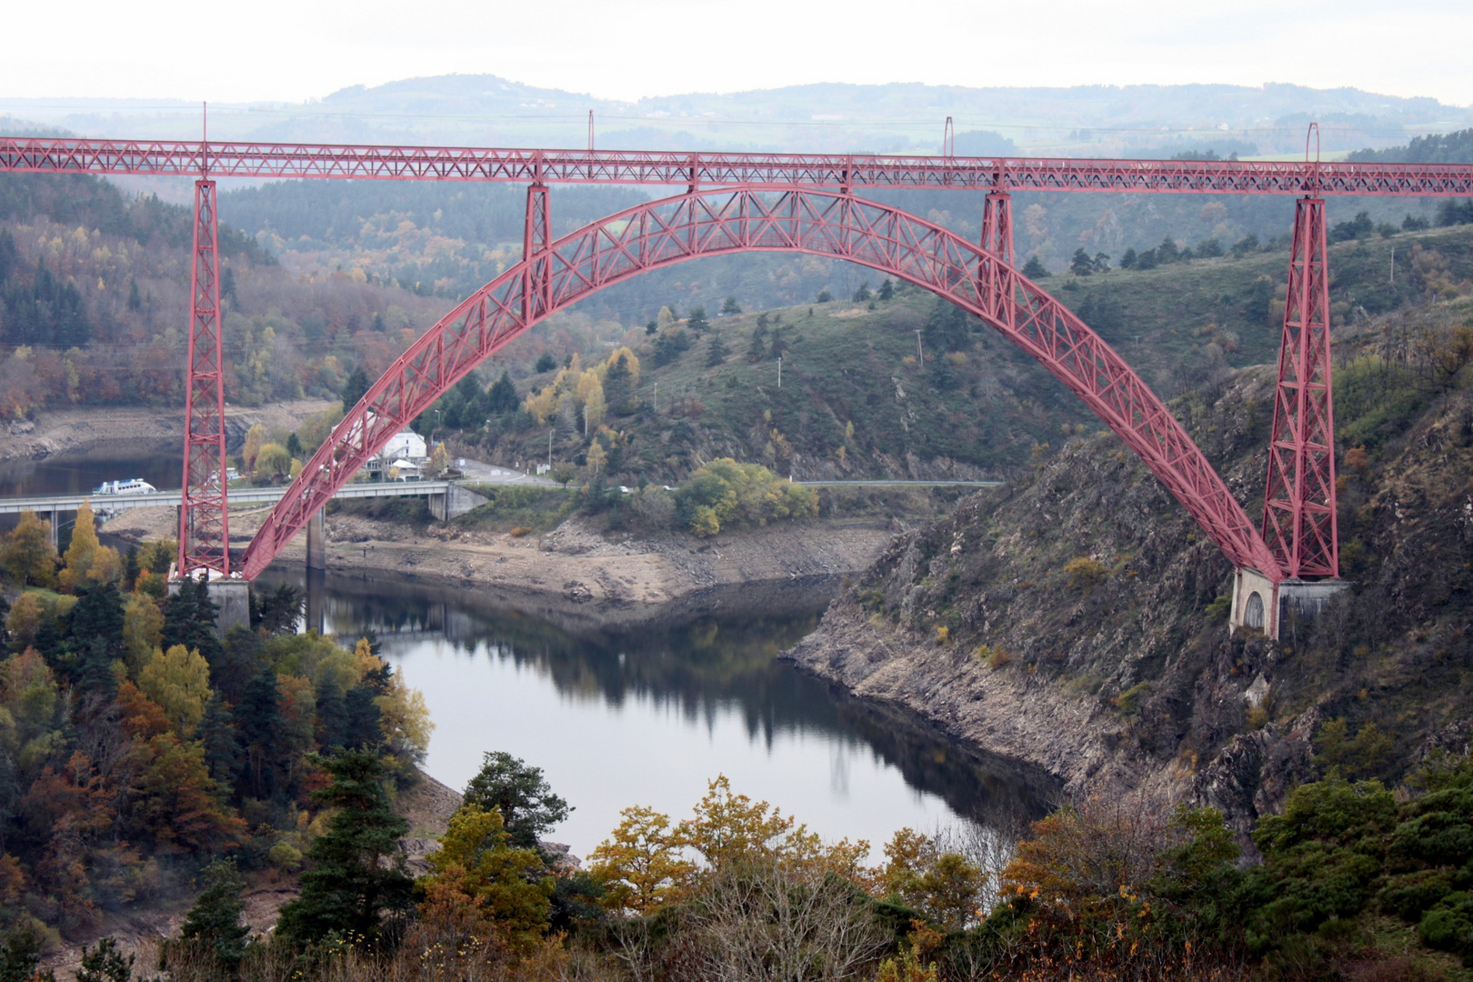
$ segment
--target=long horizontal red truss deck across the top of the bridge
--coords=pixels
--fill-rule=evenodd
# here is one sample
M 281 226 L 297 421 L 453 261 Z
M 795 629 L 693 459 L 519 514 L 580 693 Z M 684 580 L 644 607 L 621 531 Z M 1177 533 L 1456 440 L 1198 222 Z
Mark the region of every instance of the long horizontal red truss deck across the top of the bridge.
M 828 153 L 661 153 L 0 138 L 0 172 L 143 174 L 518 184 L 767 184 L 831 188 L 1158 191 L 1177 194 L 1473 194 L 1473 165 L 1284 160 L 1089 160 Z

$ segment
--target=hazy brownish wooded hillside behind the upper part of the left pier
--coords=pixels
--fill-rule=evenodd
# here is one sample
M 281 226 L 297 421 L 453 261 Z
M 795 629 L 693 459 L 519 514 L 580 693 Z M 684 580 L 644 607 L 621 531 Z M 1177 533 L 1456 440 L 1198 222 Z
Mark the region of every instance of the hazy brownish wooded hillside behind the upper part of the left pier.
M 191 216 L 85 177 L 0 177 L 0 415 L 180 405 Z M 354 272 L 296 275 L 221 230 L 225 398 L 336 393 L 382 371 L 442 303 Z

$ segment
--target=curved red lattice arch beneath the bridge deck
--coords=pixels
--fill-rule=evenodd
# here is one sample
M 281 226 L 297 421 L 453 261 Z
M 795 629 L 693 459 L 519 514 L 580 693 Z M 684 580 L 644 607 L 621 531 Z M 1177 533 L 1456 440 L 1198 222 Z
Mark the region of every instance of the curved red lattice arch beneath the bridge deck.
M 532 209 L 545 209 L 545 188 L 533 187 L 529 215 L 535 218 Z M 551 244 L 529 234 L 521 262 L 421 336 L 337 424 L 250 540 L 245 577 L 265 570 L 395 433 L 533 324 L 642 272 L 750 250 L 857 262 L 981 318 L 1125 440 L 1233 565 L 1283 579 L 1258 529 L 1167 406 L 1103 339 L 1012 265 L 887 205 L 843 191 L 759 184 L 692 188 L 645 202 Z

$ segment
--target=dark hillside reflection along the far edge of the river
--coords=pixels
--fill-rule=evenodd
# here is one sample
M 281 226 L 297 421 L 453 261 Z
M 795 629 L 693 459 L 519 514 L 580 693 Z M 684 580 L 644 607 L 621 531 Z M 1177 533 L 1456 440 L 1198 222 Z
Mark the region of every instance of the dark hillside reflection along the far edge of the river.
M 423 639 L 449 645 L 467 660 L 485 654 L 549 682 L 573 710 L 650 704 L 703 729 L 736 716 L 747 738 L 769 752 L 782 735 L 837 738 L 868 748 L 909 788 L 934 794 L 957 816 L 988 827 L 1040 817 L 1059 791 L 1049 776 L 947 741 L 900 707 L 856 699 L 778 661 L 782 649 L 818 626 L 837 579 L 713 590 L 648 618 L 641 618 L 648 611 L 627 607 L 598 610 L 561 598 L 399 579 L 315 580 L 311 618 L 345 639 L 371 629 L 386 652 Z M 302 577 L 268 574 L 261 582 L 300 584 Z M 831 761 L 831 779 L 847 779 L 843 755 Z M 560 791 L 577 796 L 577 789 Z M 626 804 L 636 801 L 638 788 Z

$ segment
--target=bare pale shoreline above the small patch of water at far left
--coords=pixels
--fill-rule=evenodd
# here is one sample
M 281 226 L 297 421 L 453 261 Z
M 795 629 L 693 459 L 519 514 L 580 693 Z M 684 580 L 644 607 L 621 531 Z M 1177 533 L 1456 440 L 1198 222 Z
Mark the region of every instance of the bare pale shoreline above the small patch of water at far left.
M 333 405 L 326 399 L 296 399 L 258 408 L 227 406 L 225 433 L 234 446 L 246 430 L 295 430 L 302 420 Z M 34 420 L 16 420 L 0 428 L 0 461 L 35 459 L 110 448 L 118 443 L 184 440 L 183 406 L 112 406 L 106 409 L 46 409 Z

